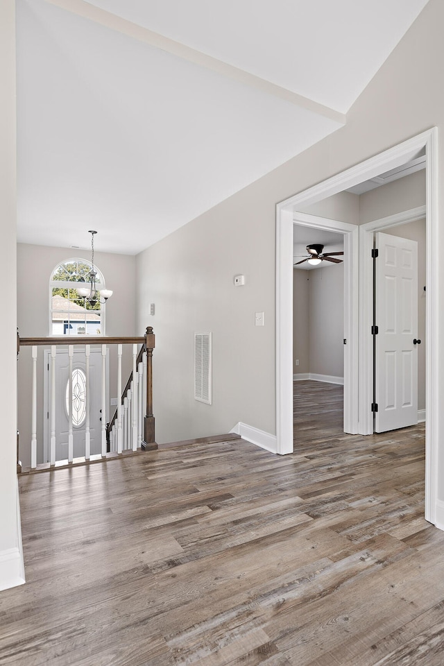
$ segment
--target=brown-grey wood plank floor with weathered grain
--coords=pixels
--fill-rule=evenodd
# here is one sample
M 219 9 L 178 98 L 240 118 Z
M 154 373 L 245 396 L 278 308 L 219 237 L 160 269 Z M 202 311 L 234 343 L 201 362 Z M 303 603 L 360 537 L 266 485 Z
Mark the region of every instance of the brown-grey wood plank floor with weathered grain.
M 424 428 L 344 435 L 338 387 L 309 407 L 299 384 L 290 456 L 200 441 L 20 478 L 1 665 L 441 666 Z

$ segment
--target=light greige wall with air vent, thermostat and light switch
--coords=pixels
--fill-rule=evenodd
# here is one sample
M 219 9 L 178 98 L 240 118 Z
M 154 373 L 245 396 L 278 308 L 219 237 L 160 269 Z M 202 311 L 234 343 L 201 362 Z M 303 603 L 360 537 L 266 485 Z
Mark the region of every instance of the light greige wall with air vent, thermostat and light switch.
M 275 433 L 275 204 L 444 126 L 443 24 L 444 3 L 430 0 L 350 109 L 345 127 L 137 256 L 138 330 L 149 319 L 157 333 L 159 441 L 227 431 L 239 420 Z M 443 162 L 443 132 L 439 137 Z M 444 285 L 443 270 L 440 264 Z M 237 291 L 236 273 L 247 278 Z M 440 298 L 444 305 L 444 289 Z M 156 303 L 153 318 L 149 302 Z M 265 311 L 263 328 L 254 326 L 257 310 Z M 444 332 L 444 307 L 437 316 Z M 214 333 L 212 407 L 192 398 L 195 330 Z

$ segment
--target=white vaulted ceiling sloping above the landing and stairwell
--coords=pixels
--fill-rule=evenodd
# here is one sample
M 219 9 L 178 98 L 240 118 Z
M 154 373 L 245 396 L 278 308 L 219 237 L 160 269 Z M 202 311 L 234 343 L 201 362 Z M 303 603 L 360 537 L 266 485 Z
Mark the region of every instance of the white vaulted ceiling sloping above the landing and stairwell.
M 19 242 L 153 244 L 341 127 L 426 3 L 17 0 Z

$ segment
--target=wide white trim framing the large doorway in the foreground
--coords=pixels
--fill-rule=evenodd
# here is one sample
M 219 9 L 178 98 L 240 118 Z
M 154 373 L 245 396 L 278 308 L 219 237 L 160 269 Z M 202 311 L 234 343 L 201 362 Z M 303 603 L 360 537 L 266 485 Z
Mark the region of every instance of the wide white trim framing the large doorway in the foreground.
M 276 206 L 276 447 L 278 452 L 289 452 L 290 436 L 293 436 L 293 401 L 291 395 L 292 321 L 291 313 L 293 245 L 291 223 L 293 211 L 302 205 L 338 194 L 375 178 L 389 169 L 395 169 L 426 149 L 426 225 L 427 225 L 427 292 L 426 292 L 426 411 L 427 429 L 425 441 L 425 518 L 437 524 L 437 474 L 438 474 L 438 130 L 436 127 L 384 151 L 375 157 L 346 169 L 314 187 L 296 194 Z M 291 259 L 289 257 L 291 256 Z M 289 266 L 291 262 L 291 266 Z M 359 298 L 361 298 L 360 292 Z M 361 348 L 364 345 L 361 345 Z M 363 356 L 359 353 L 359 366 Z M 365 427 L 363 414 L 368 411 L 367 386 L 359 379 L 359 430 Z M 345 385 L 347 382 L 345 381 Z M 364 389 L 364 392 L 363 392 Z M 370 401 L 371 402 L 371 401 Z M 365 434 L 362 432 L 362 434 Z M 291 448 L 292 450 L 292 448 Z M 444 520 L 440 520 L 444 527 Z M 438 525 L 437 525 L 438 526 Z

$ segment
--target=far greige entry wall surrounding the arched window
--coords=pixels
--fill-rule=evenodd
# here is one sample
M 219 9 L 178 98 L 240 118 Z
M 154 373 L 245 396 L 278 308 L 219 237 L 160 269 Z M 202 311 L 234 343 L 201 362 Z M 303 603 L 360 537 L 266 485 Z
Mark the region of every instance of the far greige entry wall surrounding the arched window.
M 96 244 L 98 242 L 96 241 Z M 17 244 L 17 325 L 20 336 L 47 336 L 49 330 L 49 279 L 53 269 L 74 257 L 91 259 L 88 250 L 52 248 L 40 245 Z M 94 252 L 94 263 L 103 274 L 112 297 L 106 305 L 107 335 L 135 335 L 135 257 Z M 142 332 L 144 334 L 144 331 Z M 37 359 L 37 463 L 43 455 L 43 348 Z M 117 350 L 110 346 L 110 398 L 117 398 Z M 22 465 L 31 465 L 31 348 L 23 347 L 19 355 L 19 455 Z M 122 383 L 132 370 L 130 345 L 123 352 Z M 114 409 L 108 405 L 108 416 Z

